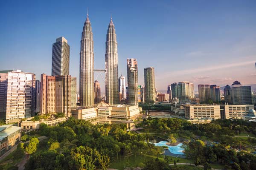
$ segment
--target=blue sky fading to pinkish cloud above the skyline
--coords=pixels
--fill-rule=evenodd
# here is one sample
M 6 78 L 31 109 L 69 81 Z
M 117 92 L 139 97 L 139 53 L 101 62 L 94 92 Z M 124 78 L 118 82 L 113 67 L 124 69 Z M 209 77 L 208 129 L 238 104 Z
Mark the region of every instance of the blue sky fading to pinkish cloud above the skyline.
M 154 67 L 158 91 L 181 81 L 193 82 L 195 90 L 202 83 L 256 84 L 255 0 L 2 0 L 0 70 L 21 69 L 36 79 L 50 75 L 52 43 L 64 36 L 70 45 L 70 75 L 79 82 L 87 8 L 95 69 L 105 68 L 112 14 L 119 76 L 126 77 L 126 59 L 136 58 L 139 85 L 144 85 L 143 68 Z M 105 91 L 100 75 L 97 80 Z

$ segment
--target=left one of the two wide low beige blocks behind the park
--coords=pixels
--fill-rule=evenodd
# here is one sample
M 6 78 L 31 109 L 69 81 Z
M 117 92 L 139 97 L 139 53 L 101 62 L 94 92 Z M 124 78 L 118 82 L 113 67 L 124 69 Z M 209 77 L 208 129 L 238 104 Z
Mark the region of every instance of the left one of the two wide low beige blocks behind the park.
M 184 105 L 186 119 L 221 119 L 219 105 Z

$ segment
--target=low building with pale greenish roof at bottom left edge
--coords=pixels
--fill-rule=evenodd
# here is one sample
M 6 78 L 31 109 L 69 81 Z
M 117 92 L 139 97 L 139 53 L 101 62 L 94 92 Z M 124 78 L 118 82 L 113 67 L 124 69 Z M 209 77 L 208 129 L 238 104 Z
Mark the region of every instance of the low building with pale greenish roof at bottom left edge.
M 14 125 L 0 126 L 0 156 L 20 141 L 20 129 Z

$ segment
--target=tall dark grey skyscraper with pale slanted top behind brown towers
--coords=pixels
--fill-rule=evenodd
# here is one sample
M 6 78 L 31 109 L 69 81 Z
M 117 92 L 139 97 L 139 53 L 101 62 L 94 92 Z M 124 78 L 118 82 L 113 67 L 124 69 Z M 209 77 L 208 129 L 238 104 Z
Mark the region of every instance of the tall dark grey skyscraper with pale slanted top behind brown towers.
M 69 75 L 70 46 L 64 37 L 52 44 L 52 76 Z

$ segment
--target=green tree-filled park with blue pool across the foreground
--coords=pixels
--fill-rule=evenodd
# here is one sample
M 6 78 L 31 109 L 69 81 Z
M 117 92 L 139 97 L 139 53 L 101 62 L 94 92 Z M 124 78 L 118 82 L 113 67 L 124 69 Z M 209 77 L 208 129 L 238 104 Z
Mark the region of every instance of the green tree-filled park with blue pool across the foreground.
M 39 130 L 22 134 L 22 142 L 0 161 L 0 169 L 256 170 L 256 122 L 192 124 L 149 117 L 135 126 L 140 130 L 73 118 L 52 127 L 42 123 Z M 166 145 L 157 146 L 160 141 Z M 178 144 L 182 153 L 168 152 Z

